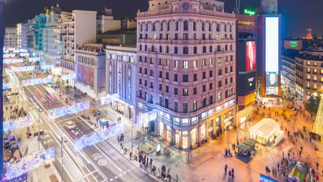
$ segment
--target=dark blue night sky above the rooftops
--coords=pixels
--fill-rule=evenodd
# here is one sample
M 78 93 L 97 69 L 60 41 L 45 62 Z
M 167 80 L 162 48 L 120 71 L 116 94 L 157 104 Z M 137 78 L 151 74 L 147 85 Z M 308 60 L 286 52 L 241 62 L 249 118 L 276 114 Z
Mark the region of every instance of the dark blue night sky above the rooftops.
M 36 14 L 43 13 L 43 8 L 55 5 L 57 0 L 7 0 L 5 6 L 6 26 L 25 22 Z M 232 12 L 235 0 L 226 2 L 226 12 Z M 258 7 L 260 0 L 240 0 L 241 8 Z M 312 28 L 317 37 L 323 34 L 322 0 L 278 0 L 279 12 L 282 14 L 282 36 L 304 36 L 306 28 Z M 146 11 L 148 0 L 59 0 L 63 11 L 103 10 L 111 8 L 115 17 L 135 17 L 137 10 Z

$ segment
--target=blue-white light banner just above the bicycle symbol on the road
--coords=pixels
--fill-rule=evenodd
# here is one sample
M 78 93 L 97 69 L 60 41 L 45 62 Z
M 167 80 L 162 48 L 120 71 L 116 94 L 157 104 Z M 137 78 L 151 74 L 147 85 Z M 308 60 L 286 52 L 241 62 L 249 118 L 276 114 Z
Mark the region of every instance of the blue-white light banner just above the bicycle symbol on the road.
M 124 125 L 122 125 L 122 123 L 117 123 L 97 132 L 92 132 L 91 134 L 81 136 L 74 140 L 74 144 L 76 146 L 75 152 L 100 143 L 101 141 L 104 141 L 106 139 L 110 139 L 111 137 L 122 134 L 123 132 Z

